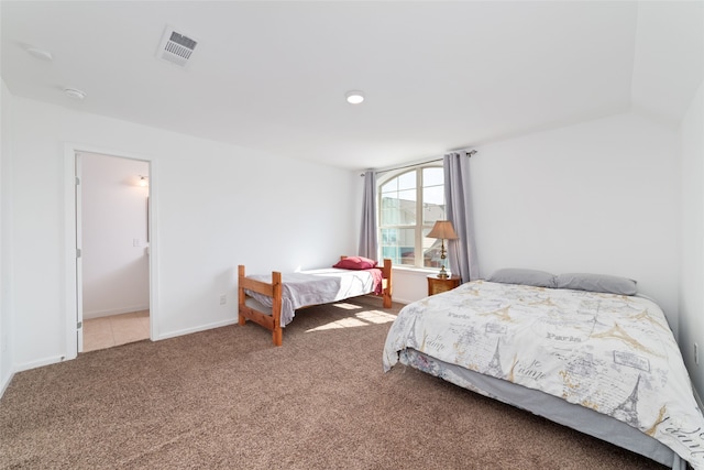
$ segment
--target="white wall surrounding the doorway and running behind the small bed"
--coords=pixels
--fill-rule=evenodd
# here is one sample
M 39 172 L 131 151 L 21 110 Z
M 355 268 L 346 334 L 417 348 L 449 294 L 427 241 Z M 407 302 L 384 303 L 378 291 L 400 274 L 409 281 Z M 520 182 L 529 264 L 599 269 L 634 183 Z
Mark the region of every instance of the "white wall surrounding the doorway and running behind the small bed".
M 11 223 L 15 260 L 22 260 L 12 273 L 18 370 L 62 360 L 70 348 L 65 142 L 153 160 L 155 339 L 237 321 L 239 263 L 251 273 L 324 266 L 355 249 L 358 217 L 350 215 L 349 195 L 356 173 L 13 98 Z M 224 306 L 220 294 L 227 294 Z

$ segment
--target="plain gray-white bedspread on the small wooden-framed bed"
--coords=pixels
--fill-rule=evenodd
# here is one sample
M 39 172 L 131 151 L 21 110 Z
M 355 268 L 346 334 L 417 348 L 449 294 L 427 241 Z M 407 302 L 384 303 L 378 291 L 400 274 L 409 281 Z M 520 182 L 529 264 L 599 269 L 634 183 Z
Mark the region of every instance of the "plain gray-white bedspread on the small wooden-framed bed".
M 268 274 L 248 276 L 271 282 Z M 351 271 L 327 267 L 297 273 L 282 273 L 282 326 L 293 319 L 297 308 L 328 304 L 374 292 L 374 277 L 365 270 Z M 261 304 L 272 307 L 272 297 L 246 291 Z

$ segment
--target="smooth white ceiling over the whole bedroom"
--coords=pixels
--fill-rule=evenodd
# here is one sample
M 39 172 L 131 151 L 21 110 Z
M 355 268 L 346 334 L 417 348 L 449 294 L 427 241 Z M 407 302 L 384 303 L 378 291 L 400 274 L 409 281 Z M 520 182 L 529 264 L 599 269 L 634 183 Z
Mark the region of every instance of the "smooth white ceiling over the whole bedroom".
M 704 78 L 702 1 L 0 8 L 15 96 L 345 168 L 629 109 L 676 125 Z M 199 41 L 185 69 L 156 58 L 167 24 Z M 351 89 L 364 103 L 344 101 Z

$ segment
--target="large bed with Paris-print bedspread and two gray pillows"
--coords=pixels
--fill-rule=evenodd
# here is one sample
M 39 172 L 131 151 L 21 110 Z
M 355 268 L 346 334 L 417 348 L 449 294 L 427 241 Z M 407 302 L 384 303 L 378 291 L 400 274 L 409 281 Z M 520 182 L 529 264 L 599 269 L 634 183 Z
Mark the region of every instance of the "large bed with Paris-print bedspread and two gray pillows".
M 704 469 L 704 418 L 652 300 L 613 276 L 499 270 L 405 306 L 398 362 L 651 458 Z

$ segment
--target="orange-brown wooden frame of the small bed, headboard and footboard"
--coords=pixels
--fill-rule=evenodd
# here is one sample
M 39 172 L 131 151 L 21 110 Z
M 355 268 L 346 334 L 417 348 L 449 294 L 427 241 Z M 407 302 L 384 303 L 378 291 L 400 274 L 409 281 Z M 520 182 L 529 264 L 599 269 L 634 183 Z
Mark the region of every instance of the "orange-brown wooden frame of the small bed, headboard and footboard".
M 344 260 L 346 256 L 340 256 L 340 260 Z M 382 294 L 384 302 L 384 308 L 391 308 L 392 306 L 392 260 L 384 259 L 384 264 L 376 269 L 382 271 Z M 273 298 L 272 315 L 266 315 L 260 310 L 256 310 L 245 304 L 246 294 L 245 289 L 256 292 Z M 238 321 L 244 326 L 246 320 L 252 320 L 255 324 L 263 326 L 272 331 L 272 340 L 274 346 L 282 346 L 284 340 L 283 328 L 280 324 L 282 311 L 282 273 L 278 271 L 272 271 L 272 282 L 266 283 L 263 281 L 255 281 L 245 276 L 244 265 L 238 266 Z M 274 315 L 274 313 L 278 313 Z

